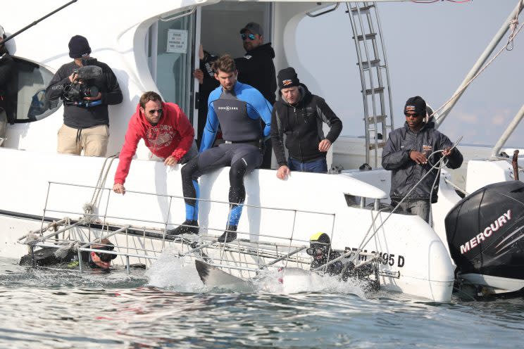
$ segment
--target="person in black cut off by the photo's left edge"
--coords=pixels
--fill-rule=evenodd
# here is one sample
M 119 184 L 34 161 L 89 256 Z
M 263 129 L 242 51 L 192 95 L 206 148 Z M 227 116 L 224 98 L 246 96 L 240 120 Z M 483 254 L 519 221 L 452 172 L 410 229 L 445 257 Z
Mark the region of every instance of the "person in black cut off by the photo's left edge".
M 10 105 L 7 87 L 15 69 L 15 62 L 6 49 L 4 39 L 6 39 L 6 33 L 4 28 L 0 26 L 0 146 L 4 142 L 8 118 L 11 117 L 8 111 Z

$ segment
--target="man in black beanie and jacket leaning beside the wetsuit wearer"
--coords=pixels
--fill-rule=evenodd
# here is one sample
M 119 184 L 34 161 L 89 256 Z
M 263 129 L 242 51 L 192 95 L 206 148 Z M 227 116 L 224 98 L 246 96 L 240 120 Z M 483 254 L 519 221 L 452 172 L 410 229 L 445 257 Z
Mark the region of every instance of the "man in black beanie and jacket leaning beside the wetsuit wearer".
M 277 177 L 286 179 L 291 171 L 328 172 L 325 155 L 342 132 L 342 121 L 323 98 L 311 94 L 300 83 L 293 68 L 280 70 L 277 80 L 282 99 L 275 103 L 271 114 L 271 140 L 279 166 Z M 323 122 L 330 127 L 325 137 Z M 287 161 L 284 134 L 289 151 Z

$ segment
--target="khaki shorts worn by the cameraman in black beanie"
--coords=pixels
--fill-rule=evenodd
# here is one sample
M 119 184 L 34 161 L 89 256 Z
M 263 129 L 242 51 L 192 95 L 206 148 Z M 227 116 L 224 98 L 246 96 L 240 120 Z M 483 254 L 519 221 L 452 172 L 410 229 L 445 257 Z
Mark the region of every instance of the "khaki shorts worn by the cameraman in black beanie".
M 106 156 L 109 141 L 108 125 L 98 125 L 87 129 L 73 129 L 62 125 L 58 130 L 58 153 L 85 156 Z

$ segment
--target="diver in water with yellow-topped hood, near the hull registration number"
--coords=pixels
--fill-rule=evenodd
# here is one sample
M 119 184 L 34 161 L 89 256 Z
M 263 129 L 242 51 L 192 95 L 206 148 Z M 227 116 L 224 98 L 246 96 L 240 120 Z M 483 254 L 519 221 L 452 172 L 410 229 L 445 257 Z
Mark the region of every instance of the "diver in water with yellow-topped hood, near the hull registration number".
M 309 248 L 306 250 L 306 253 L 313 257 L 311 271 L 320 267 L 319 271 L 330 276 L 339 276 L 343 281 L 347 281 L 349 278 L 367 279 L 370 274 L 375 272 L 375 267 L 372 264 L 355 268 L 353 262 L 342 262 L 343 259 L 323 267 L 323 265 L 339 258 L 342 254 L 332 250 L 330 237 L 322 232 L 313 234 L 309 238 Z

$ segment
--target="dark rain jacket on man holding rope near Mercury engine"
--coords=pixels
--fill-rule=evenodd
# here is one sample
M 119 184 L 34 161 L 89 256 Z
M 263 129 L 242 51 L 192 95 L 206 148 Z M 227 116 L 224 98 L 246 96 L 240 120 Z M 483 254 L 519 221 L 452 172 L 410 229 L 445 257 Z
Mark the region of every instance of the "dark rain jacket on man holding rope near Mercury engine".
M 390 193 L 392 200 L 400 201 L 404 198 L 420 178 L 430 170 L 432 166 L 430 163 L 435 164 L 441 158 L 441 153 L 437 153 L 430 157 L 428 159 L 429 162 L 425 165 L 418 165 L 409 158 L 410 151 L 419 151 L 428 157 L 430 153 L 449 146 L 453 146 L 453 144 L 448 137 L 435 129 L 434 122 L 426 123 L 417 133 L 412 132 L 407 124 L 391 132 L 384 149 L 382 149 L 382 167 L 385 170 L 392 171 Z M 457 148 L 454 148 L 448 159 L 447 167 L 451 169 L 461 167 L 463 158 Z M 428 200 L 430 198 L 431 186 L 438 172 L 437 170 L 432 170 L 428 177 L 425 177 L 423 182 L 418 184 L 406 200 Z M 437 180 L 432 193 L 432 203 L 437 202 L 438 189 L 439 181 Z

